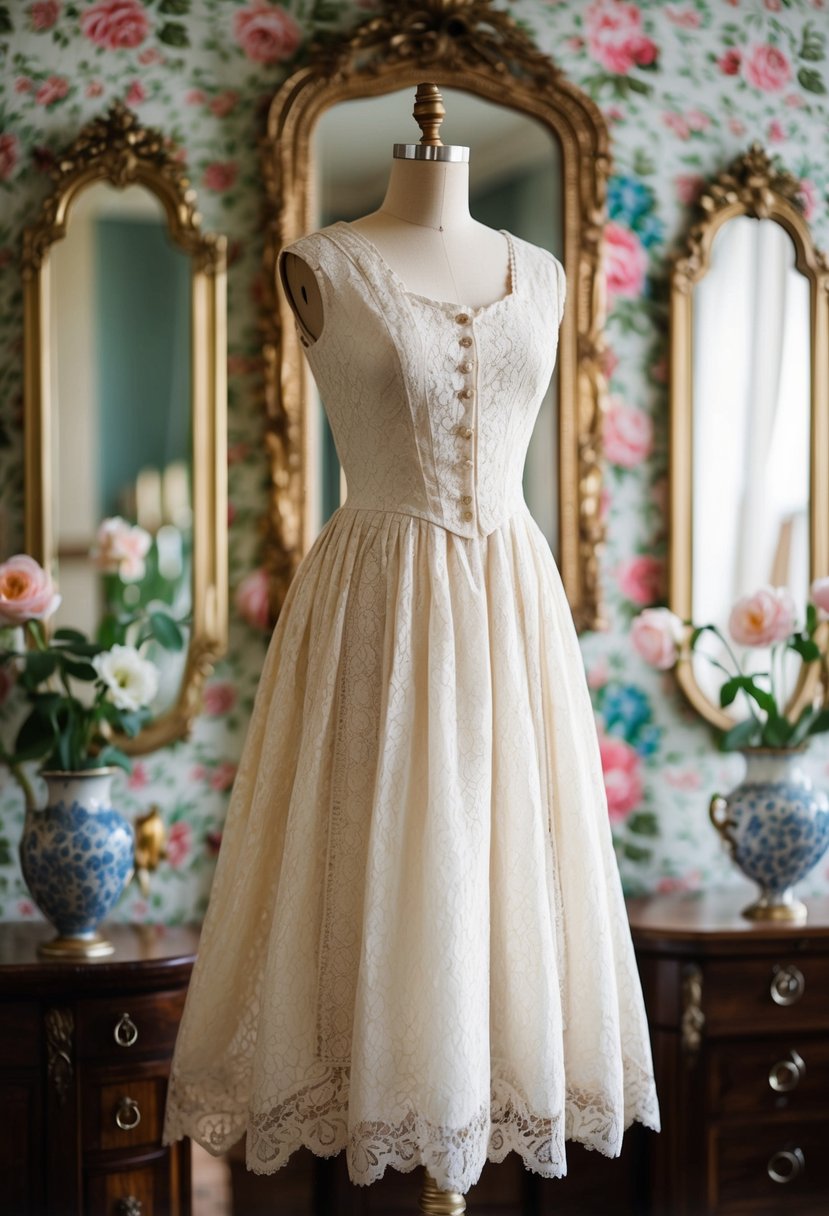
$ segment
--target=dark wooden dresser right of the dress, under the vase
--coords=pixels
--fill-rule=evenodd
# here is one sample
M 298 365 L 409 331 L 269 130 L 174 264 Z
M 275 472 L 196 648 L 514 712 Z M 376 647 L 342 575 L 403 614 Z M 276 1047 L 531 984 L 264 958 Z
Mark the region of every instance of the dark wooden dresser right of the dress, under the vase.
M 653 1216 L 829 1214 L 829 899 L 750 924 L 733 893 L 628 902 L 661 1136 Z

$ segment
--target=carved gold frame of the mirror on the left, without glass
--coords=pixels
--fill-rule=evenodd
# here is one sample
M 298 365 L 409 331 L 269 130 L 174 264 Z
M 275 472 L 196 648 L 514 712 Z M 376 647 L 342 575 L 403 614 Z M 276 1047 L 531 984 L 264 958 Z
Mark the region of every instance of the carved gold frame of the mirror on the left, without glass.
M 119 747 L 154 751 L 190 733 L 201 689 L 227 644 L 226 292 L 222 236 L 201 231 L 196 195 L 160 131 L 141 126 L 122 103 L 84 126 L 51 169 L 55 190 L 23 233 L 26 551 L 44 567 L 56 558 L 52 528 L 50 365 L 51 247 L 67 235 L 75 198 L 95 182 L 139 185 L 162 204 L 173 243 L 191 259 L 192 612 L 176 702 Z

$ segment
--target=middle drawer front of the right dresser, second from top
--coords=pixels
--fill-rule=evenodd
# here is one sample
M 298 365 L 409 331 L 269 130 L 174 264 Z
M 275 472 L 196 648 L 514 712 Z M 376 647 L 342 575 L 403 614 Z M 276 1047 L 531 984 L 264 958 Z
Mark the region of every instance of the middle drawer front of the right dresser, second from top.
M 740 1038 L 710 1048 L 709 1109 L 724 1118 L 822 1113 L 829 1118 L 829 1038 Z

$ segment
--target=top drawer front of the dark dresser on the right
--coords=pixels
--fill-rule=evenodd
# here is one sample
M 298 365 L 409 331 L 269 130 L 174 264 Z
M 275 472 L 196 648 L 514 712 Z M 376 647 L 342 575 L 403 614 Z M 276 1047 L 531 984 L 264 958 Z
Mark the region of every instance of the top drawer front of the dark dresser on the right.
M 706 962 L 703 1013 L 709 1035 L 829 1030 L 829 958 L 780 951 Z

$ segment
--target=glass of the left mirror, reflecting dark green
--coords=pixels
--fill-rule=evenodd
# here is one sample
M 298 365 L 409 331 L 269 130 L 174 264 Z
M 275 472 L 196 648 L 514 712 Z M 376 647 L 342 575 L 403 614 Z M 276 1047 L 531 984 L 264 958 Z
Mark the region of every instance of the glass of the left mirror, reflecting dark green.
M 98 182 L 73 201 L 49 274 L 56 624 L 94 634 L 107 610 L 157 601 L 187 618 L 191 258 L 154 195 Z M 150 657 L 160 713 L 179 696 L 186 648 Z

